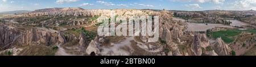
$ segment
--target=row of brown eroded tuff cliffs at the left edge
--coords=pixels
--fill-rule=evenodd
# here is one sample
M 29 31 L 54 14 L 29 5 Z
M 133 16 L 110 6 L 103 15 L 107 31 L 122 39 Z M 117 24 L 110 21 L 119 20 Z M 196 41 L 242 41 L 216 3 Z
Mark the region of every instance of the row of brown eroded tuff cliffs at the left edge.
M 63 32 L 49 32 L 31 28 L 20 31 L 17 28 L 0 26 L 0 48 L 11 48 L 14 45 L 55 45 L 56 43 L 65 43 Z M 54 35 L 53 35 L 54 34 Z M 59 34 L 56 36 L 56 34 Z

